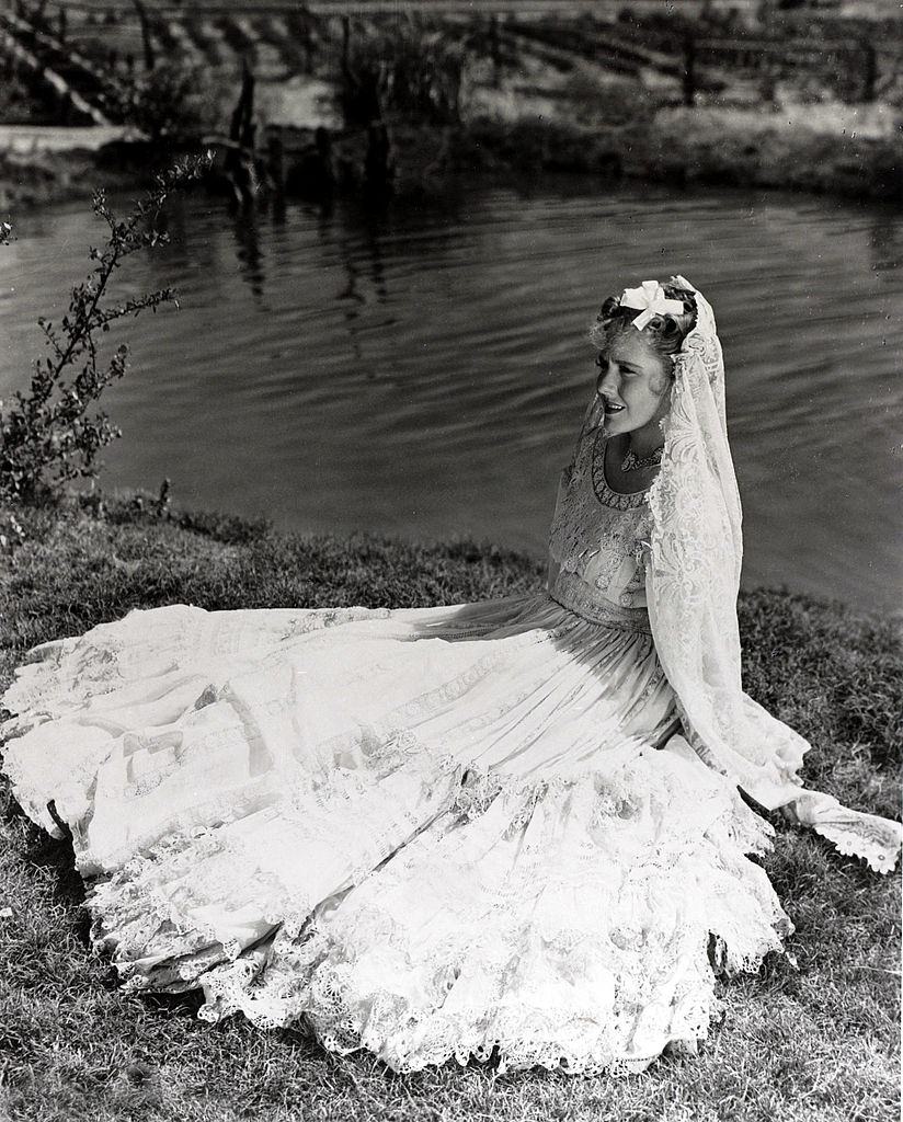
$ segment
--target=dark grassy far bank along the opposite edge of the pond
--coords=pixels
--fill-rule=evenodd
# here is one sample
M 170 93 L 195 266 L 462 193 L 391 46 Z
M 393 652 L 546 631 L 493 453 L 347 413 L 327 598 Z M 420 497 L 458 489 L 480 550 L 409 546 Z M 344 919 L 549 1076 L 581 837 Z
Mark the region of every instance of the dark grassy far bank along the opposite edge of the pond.
M 768 114 L 750 121 L 738 116 L 670 109 L 625 125 L 579 125 L 561 119 L 523 117 L 503 121 L 476 118 L 443 129 L 398 122 L 391 129 L 397 162 L 398 203 L 437 199 L 460 191 L 474 176 L 517 186 L 535 185 L 544 172 L 590 174 L 607 183 L 667 183 L 674 186 L 773 187 L 853 199 L 903 197 L 903 159 L 893 140 L 829 135 Z M 0 214 L 20 208 L 90 197 L 108 190 L 149 183 L 144 149 L 130 159 L 101 150 L 0 154 Z M 337 140 L 340 193 L 357 193 L 363 181 L 366 138 Z M 168 158 L 160 154 L 160 166 Z M 291 167 L 291 165 L 289 165 Z

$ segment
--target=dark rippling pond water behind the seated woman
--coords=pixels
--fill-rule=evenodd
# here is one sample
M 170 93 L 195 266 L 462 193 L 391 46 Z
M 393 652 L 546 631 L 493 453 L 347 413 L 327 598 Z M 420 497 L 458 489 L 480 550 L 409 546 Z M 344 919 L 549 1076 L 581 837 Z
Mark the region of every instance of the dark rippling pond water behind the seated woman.
M 570 180 L 381 217 L 197 199 L 167 223 L 172 245 L 120 280 L 123 295 L 173 284 L 182 307 L 123 330 L 133 362 L 105 402 L 125 431 L 108 485 L 169 476 L 179 504 L 283 526 L 474 534 L 542 555 L 592 392 L 587 328 L 609 293 L 683 273 L 725 349 L 745 583 L 899 608 L 903 220 L 890 208 Z M 67 206 L 22 218 L 18 236 L 0 396 L 26 385 L 34 321 L 59 314 L 101 233 Z

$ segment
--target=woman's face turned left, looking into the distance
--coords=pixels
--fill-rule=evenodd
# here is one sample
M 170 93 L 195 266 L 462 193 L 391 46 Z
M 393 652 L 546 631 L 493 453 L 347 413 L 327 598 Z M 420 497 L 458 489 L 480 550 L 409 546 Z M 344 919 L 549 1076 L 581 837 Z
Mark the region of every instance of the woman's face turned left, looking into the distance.
M 609 435 L 657 423 L 667 413 L 671 364 L 649 347 L 642 332 L 634 329 L 616 335 L 599 352 L 596 365 L 596 393 Z

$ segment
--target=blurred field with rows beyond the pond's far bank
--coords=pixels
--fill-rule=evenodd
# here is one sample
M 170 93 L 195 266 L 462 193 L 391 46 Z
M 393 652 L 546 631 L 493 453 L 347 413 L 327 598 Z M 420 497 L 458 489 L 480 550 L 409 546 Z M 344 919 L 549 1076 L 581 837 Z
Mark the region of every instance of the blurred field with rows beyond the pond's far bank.
M 695 104 L 761 108 L 780 94 L 789 102 L 878 100 L 900 108 L 903 21 L 893 4 L 872 7 L 886 10 L 887 17 L 866 18 L 861 8 L 856 16 L 841 16 L 839 6 L 768 15 L 762 3 L 694 0 L 666 9 L 658 0 L 630 6 L 620 0 L 507 4 L 370 0 L 307 6 L 262 0 L 140 6 L 31 0 L 19 4 L 19 12 L 27 19 L 39 10 L 52 35 L 101 76 L 125 80 L 140 73 L 148 48 L 156 61 L 197 67 L 219 91 L 220 125 L 247 65 L 258 84 L 270 91 L 258 107 L 261 120 L 303 126 L 330 119 L 319 101 L 326 92 L 323 82 L 338 65 L 342 17 L 349 13 L 354 36 L 416 16 L 434 21 L 451 40 L 467 40 L 472 89 L 464 108 L 504 119 L 591 114 L 593 99 L 605 99 L 612 83 L 634 85 L 642 99 L 651 96 L 656 104 L 685 102 L 688 26 L 694 37 Z M 756 21 L 757 15 L 764 18 Z M 474 49 L 477 40 L 480 48 Z M 93 91 L 86 86 L 92 83 L 71 59 L 49 53 L 47 64 L 91 100 Z M 0 112 L 0 120 L 12 119 Z

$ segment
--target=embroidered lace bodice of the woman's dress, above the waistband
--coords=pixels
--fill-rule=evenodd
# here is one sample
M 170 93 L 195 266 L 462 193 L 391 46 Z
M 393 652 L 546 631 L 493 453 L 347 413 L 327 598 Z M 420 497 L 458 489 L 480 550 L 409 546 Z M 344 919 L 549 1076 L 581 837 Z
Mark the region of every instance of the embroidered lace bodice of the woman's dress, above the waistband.
M 647 491 L 621 495 L 608 486 L 607 441 L 601 429 L 584 434 L 561 473 L 549 534 L 547 589 L 563 607 L 589 619 L 648 632 Z

